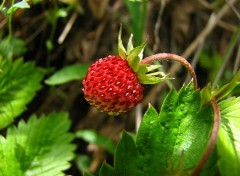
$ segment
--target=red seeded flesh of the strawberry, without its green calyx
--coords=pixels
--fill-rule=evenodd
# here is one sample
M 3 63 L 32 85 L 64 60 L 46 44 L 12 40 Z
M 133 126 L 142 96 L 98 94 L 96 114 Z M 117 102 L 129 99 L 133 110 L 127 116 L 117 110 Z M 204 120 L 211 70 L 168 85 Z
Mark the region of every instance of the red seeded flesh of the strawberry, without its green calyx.
M 143 98 L 136 74 L 119 56 L 108 56 L 92 64 L 83 87 L 86 100 L 109 115 L 129 111 Z

